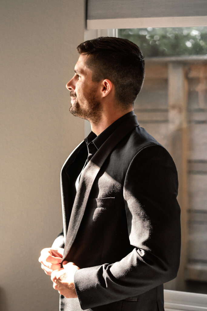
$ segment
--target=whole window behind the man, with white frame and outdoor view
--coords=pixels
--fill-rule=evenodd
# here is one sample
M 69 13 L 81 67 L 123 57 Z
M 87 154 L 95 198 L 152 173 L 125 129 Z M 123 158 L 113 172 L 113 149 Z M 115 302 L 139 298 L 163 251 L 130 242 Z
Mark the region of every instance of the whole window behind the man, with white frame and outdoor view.
M 86 30 L 85 40 L 107 35 L 141 47 L 146 78 L 135 114 L 140 125 L 169 150 L 178 169 L 181 264 L 178 277 L 165 284 L 165 309 L 207 310 L 207 27 Z M 168 47 L 163 45 L 167 37 Z M 181 45 L 176 37 L 183 52 L 174 48 Z M 144 48 L 146 42 L 159 49 L 155 45 L 153 54 L 148 46 Z M 89 126 L 86 121 L 86 135 Z

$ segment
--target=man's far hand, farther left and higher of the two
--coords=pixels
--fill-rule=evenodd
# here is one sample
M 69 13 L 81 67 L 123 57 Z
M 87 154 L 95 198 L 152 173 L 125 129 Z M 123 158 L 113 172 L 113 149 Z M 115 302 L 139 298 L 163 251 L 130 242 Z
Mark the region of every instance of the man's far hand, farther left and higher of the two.
M 39 257 L 41 268 L 47 275 L 51 275 L 52 271 L 61 268 L 64 248 L 43 248 Z

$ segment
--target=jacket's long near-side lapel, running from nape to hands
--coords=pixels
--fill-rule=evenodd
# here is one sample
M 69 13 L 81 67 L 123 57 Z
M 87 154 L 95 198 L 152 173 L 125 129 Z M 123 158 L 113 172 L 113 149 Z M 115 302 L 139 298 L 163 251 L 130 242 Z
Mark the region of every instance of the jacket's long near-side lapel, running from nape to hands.
M 97 150 L 95 155 L 88 162 L 88 165 L 83 169 L 81 174 L 79 187 L 76 193 L 73 209 L 70 216 L 70 222 L 68 227 L 68 232 L 66 236 L 66 243 L 64 249 L 63 260 L 70 251 L 72 244 L 74 243 L 76 234 L 78 232 L 83 214 L 88 202 L 88 197 L 91 192 L 93 182 L 105 162 L 106 158 L 109 156 L 110 152 L 114 147 L 129 133 L 133 128 L 137 127 L 139 123 L 137 122 L 136 115 L 125 120 L 119 125 L 118 128 L 110 135 L 110 137 L 102 144 L 102 146 Z

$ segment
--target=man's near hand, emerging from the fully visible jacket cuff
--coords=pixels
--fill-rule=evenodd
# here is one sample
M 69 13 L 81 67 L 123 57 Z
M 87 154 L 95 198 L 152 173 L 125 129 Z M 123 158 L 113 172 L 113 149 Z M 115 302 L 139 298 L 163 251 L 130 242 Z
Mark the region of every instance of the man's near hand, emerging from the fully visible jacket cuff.
M 53 288 L 65 298 L 77 298 L 74 274 L 79 269 L 73 262 L 63 262 L 63 268 L 52 271 Z

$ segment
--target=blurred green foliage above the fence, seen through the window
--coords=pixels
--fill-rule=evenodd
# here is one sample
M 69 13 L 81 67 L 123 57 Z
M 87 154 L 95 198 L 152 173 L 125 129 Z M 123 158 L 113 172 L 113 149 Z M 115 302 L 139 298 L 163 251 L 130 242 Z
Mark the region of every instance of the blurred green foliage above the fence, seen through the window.
M 136 43 L 144 57 L 207 55 L 207 27 L 119 29 L 119 37 Z

